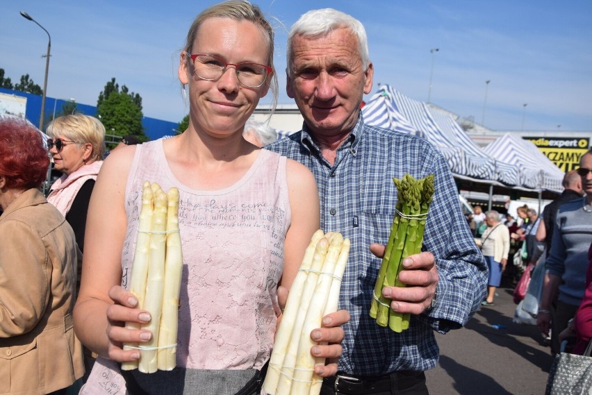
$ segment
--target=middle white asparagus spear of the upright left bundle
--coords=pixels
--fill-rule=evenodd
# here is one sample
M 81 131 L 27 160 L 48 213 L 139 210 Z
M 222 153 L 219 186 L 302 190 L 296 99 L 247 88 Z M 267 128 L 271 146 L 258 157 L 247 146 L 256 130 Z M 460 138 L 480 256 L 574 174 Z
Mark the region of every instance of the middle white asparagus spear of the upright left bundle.
M 152 190 L 155 190 L 154 183 Z M 155 192 L 154 215 L 150 235 L 150 257 L 144 309 L 151 315 L 151 321 L 143 328 L 150 330 L 152 338 L 145 343 L 146 348 L 158 346 L 158 326 L 161 322 L 163 306 L 163 279 L 165 275 L 165 249 L 167 230 L 167 195 L 160 187 Z M 140 346 L 141 348 L 141 346 Z M 158 370 L 156 349 L 142 350 L 138 369 L 142 373 L 154 373 Z

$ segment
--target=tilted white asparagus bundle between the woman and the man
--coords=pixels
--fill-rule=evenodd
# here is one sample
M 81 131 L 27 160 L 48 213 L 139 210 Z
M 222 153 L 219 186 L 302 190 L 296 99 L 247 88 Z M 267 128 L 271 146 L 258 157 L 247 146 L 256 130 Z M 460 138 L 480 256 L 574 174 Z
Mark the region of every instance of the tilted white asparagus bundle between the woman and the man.
M 350 239 L 340 233 L 317 230 L 288 294 L 277 330 L 263 389 L 269 395 L 318 395 L 322 377 L 314 373 L 324 358 L 314 358 L 317 343 L 311 332 L 321 327 L 322 317 L 337 311 L 341 278 L 345 271 Z

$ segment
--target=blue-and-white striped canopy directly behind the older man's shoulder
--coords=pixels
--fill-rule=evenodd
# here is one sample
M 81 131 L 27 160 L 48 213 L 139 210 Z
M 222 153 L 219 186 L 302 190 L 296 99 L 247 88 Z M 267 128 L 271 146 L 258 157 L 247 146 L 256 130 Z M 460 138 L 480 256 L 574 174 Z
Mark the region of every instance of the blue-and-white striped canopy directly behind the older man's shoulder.
M 455 176 L 518 185 L 515 165 L 484 153 L 446 112 L 410 99 L 390 85 L 382 85 L 362 112 L 367 124 L 425 137 L 443 153 Z

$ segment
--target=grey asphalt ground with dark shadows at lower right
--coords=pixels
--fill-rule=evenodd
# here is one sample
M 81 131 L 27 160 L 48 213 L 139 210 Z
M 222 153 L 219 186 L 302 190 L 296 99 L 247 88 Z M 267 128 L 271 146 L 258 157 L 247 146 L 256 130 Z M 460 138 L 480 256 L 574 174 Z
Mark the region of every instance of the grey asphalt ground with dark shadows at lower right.
M 552 362 L 536 326 L 512 322 L 511 285 L 466 328 L 437 335 L 438 366 L 426 372 L 431 395 L 543 395 Z M 499 329 L 494 325 L 502 326 Z

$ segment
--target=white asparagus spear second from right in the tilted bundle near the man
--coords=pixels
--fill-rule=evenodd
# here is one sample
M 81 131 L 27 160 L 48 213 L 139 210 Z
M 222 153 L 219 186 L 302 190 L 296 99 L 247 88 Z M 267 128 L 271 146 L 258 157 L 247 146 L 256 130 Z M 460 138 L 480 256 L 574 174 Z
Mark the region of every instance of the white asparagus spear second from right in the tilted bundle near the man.
M 321 326 L 323 312 L 329 298 L 329 290 L 333 282 L 334 271 L 342 244 L 343 237 L 339 233 L 332 235 L 329 251 L 322 265 L 322 273 L 318 276 L 311 303 L 308 310 L 306 310 L 306 318 L 300 332 L 296 369 L 294 371 L 294 380 L 290 394 L 309 394 L 311 391 L 313 370 L 315 368 L 315 358 L 311 355 L 311 348 L 318 344 L 311 339 L 311 332 Z

